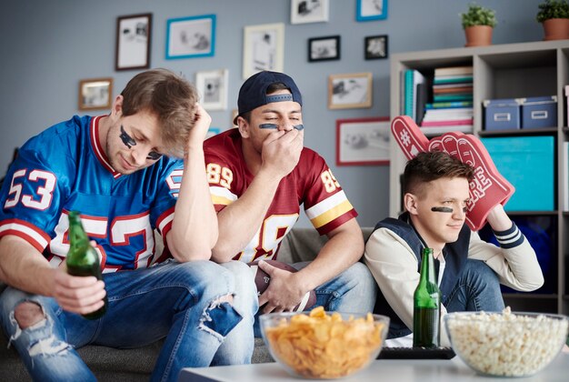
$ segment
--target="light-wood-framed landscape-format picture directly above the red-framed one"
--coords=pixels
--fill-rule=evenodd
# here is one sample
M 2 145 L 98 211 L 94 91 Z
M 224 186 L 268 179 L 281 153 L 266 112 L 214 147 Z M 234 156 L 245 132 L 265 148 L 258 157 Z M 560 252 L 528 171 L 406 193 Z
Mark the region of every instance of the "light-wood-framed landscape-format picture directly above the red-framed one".
M 352 109 L 371 106 L 371 73 L 328 76 L 328 108 Z

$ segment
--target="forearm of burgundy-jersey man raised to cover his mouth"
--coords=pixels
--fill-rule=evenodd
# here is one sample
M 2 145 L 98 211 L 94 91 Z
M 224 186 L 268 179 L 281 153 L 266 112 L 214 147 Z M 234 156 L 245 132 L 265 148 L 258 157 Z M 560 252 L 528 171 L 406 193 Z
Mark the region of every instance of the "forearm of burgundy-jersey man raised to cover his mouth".
M 259 172 L 245 193 L 217 214 L 219 238 L 212 256 L 216 262 L 231 260 L 249 244 L 263 224 L 280 180 Z

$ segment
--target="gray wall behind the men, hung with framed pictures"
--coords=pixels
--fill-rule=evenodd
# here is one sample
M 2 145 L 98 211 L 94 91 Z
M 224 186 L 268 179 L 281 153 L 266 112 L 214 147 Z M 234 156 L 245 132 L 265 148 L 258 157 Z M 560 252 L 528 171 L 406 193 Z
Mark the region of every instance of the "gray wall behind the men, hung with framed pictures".
M 213 126 L 229 127 L 231 109 L 242 84 L 245 25 L 284 23 L 284 71 L 303 91 L 305 145 L 319 152 L 360 216 L 373 226 L 389 213 L 388 166 L 335 166 L 335 121 L 339 118 L 389 116 L 389 60 L 364 60 L 364 36 L 389 35 L 390 54 L 462 47 L 459 13 L 471 0 L 388 0 L 386 20 L 356 22 L 355 0 L 330 0 L 328 23 L 290 24 L 288 0 L 4 0 L 0 14 L 0 174 L 15 146 L 29 136 L 68 119 L 77 110 L 83 78 L 111 76 L 114 95 L 136 71 L 115 72 L 115 28 L 119 15 L 153 14 L 152 67 L 166 67 L 194 80 L 195 71 L 229 69 L 229 107 L 212 112 Z M 542 26 L 534 20 L 541 0 L 482 0 L 499 24 L 494 44 L 538 41 Z M 166 20 L 189 15 L 217 15 L 215 56 L 165 59 Z M 309 63 L 309 37 L 341 35 L 340 61 Z M 371 108 L 329 110 L 327 76 L 372 72 Z M 100 113 L 102 114 L 102 112 Z M 301 226 L 309 223 L 303 217 Z

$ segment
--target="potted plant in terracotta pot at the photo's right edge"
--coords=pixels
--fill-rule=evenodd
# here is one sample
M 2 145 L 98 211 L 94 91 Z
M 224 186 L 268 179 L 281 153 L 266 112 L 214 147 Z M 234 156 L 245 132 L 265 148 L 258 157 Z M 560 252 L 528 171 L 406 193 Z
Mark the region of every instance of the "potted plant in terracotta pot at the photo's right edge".
M 544 40 L 564 40 L 569 38 L 569 4 L 566 0 L 545 0 L 538 5 L 535 16 L 544 25 Z

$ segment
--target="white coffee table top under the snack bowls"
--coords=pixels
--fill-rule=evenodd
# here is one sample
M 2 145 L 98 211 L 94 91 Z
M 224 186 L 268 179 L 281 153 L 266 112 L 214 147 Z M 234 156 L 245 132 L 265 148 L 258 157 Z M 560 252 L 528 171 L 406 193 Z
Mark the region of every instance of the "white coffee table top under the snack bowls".
M 179 382 L 298 382 L 276 363 L 228 367 L 187 367 L 180 372 Z M 370 367 L 339 379 L 342 382 L 396 381 L 396 382 L 462 382 L 508 380 L 510 382 L 567 382 L 569 381 L 569 354 L 562 353 L 554 362 L 534 377 L 483 377 L 467 367 L 458 357 L 451 360 L 378 359 Z

